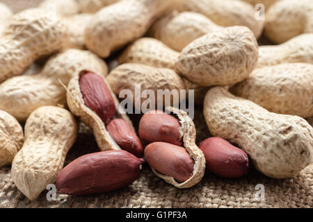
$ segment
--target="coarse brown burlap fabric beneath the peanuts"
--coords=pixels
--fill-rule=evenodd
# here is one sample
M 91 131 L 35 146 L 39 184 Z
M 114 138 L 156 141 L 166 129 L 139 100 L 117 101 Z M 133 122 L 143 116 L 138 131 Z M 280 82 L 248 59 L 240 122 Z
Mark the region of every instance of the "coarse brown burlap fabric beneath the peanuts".
M 40 0 L 2 0 L 19 11 Z M 22 3 L 26 3 L 24 6 Z M 135 126 L 140 117 L 134 116 Z M 197 142 L 209 136 L 202 108 L 195 111 Z M 76 144 L 67 155 L 65 164 L 86 153 L 99 151 L 93 134 L 80 124 Z M 257 199 L 256 185 L 264 185 L 264 200 Z M 218 178 L 206 173 L 202 181 L 189 189 L 177 189 L 155 176 L 145 164 L 141 177 L 132 185 L 108 194 L 67 196 L 57 194 L 48 201 L 47 191 L 33 202 L 29 201 L 13 184 L 10 167 L 0 169 L 0 207 L 313 207 L 313 165 L 294 178 L 275 180 L 250 169 L 243 178 Z M 259 196 L 257 196 L 259 197 Z

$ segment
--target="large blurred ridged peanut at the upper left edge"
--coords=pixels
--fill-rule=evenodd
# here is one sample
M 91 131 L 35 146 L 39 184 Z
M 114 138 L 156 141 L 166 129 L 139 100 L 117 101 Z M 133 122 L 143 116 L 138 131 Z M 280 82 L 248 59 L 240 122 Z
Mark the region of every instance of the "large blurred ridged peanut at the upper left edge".
M 40 56 L 61 49 L 67 28 L 53 12 L 31 8 L 14 15 L 1 36 L 0 83 L 21 75 Z

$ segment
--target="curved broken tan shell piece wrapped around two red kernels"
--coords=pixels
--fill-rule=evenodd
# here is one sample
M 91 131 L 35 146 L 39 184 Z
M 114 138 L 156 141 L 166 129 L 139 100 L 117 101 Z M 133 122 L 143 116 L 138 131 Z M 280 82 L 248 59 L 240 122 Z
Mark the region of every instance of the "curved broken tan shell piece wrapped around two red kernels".
M 178 110 L 177 108 L 173 107 L 166 107 L 166 110 L 168 112 L 172 112 L 177 116 L 179 119 L 179 122 L 181 123 L 181 133 L 182 133 L 182 139 L 184 142 L 184 148 L 186 148 L 186 151 L 189 153 L 190 157 L 194 160 L 195 165 L 193 166 L 193 176 L 186 180 L 185 182 L 177 182 L 174 180 L 174 178 L 170 176 L 163 175 L 162 173 L 159 173 L 158 171 L 155 171 L 152 169 L 153 173 L 159 178 L 162 178 L 166 182 L 168 182 L 171 185 L 174 185 L 178 188 L 188 188 L 193 187 L 196 185 L 202 177 L 204 176 L 205 171 L 205 158 L 198 146 L 195 145 L 195 125 L 190 117 L 188 117 L 188 114 L 184 112 L 183 110 Z

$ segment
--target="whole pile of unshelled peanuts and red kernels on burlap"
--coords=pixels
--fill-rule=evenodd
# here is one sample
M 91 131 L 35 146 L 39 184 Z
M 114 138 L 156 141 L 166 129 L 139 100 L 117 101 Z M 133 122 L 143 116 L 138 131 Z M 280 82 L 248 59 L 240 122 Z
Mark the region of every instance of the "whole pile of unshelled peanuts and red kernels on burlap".
M 54 182 L 61 194 L 114 191 L 144 162 L 178 188 L 205 169 L 290 178 L 313 163 L 312 0 L 45 0 L 15 15 L 1 3 L 0 21 L 0 167 L 29 200 Z M 262 33 L 276 45 L 258 46 Z M 194 89 L 214 137 L 197 145 L 173 105 L 143 114 L 137 135 L 118 99 L 136 84 Z M 99 152 L 63 168 L 78 121 Z

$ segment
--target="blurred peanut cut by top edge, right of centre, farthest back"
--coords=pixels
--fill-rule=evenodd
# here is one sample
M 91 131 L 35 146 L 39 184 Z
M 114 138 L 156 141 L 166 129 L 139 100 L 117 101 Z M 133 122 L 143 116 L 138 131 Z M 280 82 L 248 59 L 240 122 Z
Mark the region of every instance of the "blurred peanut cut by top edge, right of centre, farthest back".
M 192 11 L 205 15 L 218 26 L 247 26 L 258 38 L 264 22 L 255 19 L 255 8 L 244 1 L 234 0 L 182 0 L 179 11 Z

